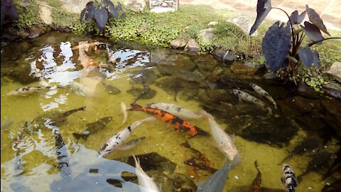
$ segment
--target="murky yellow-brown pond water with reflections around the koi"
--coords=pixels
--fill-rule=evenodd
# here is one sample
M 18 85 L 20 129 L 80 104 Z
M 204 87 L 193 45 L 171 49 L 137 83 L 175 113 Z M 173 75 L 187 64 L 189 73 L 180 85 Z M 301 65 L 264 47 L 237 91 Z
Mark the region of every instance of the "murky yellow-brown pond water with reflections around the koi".
M 88 52 L 81 53 L 75 48 L 80 41 L 107 44 L 97 46 L 97 50 L 90 46 Z M 112 55 L 115 64 L 108 61 Z M 84 57 L 102 68 L 85 70 L 81 65 Z M 332 162 L 340 160 L 340 100 L 300 94 L 276 80 L 264 80 L 259 73 L 237 74 L 232 65 L 224 65 L 212 55 L 186 55 L 59 32 L 1 45 L 1 191 L 139 191 L 135 164 L 128 158 L 132 154 L 140 156 L 142 168 L 161 191 L 196 191 L 199 181 L 214 171 L 184 164 L 195 154 L 180 144 L 187 141 L 213 168 L 220 169 L 224 155 L 212 137 L 191 137 L 161 121 L 148 122 L 129 137 L 128 141 L 146 137 L 134 148 L 97 158 L 110 137 L 149 117 L 144 112 L 129 111 L 122 124 L 121 102 L 129 107 L 141 92 L 136 103 L 142 106 L 165 102 L 206 110 L 234 138 L 242 162 L 229 172 L 224 191 L 249 191 L 257 174 L 254 161 L 259 164 L 262 188 L 283 191 L 281 161 L 307 138 L 313 138 L 314 144 L 308 142 L 302 154 L 284 161 L 296 176 L 318 153 L 329 154 L 327 160 L 316 160 L 317 170 L 303 176 L 297 191 L 321 191 L 327 183 L 340 179 L 337 171 L 322 178 Z M 269 92 L 278 109 L 256 95 L 250 82 Z M 6 95 L 27 86 L 50 87 L 28 96 Z M 272 114 L 240 102 L 232 89 L 264 100 Z M 57 124 L 48 123 L 58 114 L 83 106 L 85 110 Z M 74 133 L 82 133 L 103 117 L 111 117 L 105 127 L 86 138 L 75 138 Z M 210 132 L 205 119 L 189 121 Z

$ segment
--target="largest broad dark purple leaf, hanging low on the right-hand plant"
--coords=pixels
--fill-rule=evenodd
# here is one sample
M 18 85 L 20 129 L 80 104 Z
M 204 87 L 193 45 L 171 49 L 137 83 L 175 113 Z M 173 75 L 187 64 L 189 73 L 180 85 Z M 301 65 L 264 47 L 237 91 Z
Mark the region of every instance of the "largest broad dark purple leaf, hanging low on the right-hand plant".
M 261 43 L 266 62 L 271 70 L 277 71 L 288 66 L 288 54 L 291 48 L 290 26 L 279 26 L 279 21 L 266 31 Z

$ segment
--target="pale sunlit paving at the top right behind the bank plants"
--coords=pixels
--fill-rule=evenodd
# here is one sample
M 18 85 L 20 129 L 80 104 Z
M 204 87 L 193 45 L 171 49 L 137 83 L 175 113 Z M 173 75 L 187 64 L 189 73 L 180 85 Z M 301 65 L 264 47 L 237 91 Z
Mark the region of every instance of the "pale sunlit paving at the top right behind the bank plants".
M 256 17 L 257 0 L 179 0 L 181 4 L 209 5 L 215 9 L 229 9 L 249 16 Z M 298 10 L 305 11 L 305 5 L 320 15 L 328 29 L 341 31 L 341 0 L 271 0 L 271 6 L 281 8 L 290 15 Z M 283 11 L 273 9 L 267 18 L 288 21 Z M 308 16 L 306 16 L 308 19 Z

